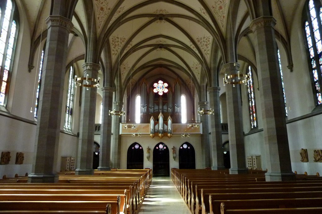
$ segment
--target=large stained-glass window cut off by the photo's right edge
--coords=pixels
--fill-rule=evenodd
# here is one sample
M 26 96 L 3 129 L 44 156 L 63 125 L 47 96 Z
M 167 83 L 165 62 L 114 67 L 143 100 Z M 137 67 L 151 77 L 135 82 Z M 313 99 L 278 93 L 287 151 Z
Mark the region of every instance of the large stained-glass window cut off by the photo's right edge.
M 322 43 L 321 43 L 321 19 L 322 7 L 320 1 L 309 0 L 306 4 L 306 14 L 304 30 L 307 39 L 309 60 L 311 67 L 311 78 L 313 83 L 314 97 L 316 98 L 317 105 L 322 104 L 321 98 L 321 71 L 322 71 Z M 318 62 L 318 65 L 317 65 Z

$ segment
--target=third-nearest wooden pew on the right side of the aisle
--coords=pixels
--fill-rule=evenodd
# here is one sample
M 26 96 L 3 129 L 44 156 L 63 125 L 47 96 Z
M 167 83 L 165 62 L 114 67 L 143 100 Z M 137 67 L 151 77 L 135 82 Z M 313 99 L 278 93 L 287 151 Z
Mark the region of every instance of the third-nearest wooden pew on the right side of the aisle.
M 202 189 L 201 201 L 196 197 L 195 213 L 206 214 L 210 210 L 209 196 L 213 200 L 239 199 L 287 199 L 322 197 L 321 187 L 305 188 L 247 188 L 247 189 Z M 197 193 L 199 194 L 199 193 Z

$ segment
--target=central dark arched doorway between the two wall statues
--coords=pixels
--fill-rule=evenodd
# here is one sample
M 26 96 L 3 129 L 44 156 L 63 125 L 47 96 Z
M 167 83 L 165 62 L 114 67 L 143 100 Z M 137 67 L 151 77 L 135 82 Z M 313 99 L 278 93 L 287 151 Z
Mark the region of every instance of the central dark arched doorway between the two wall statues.
M 170 176 L 169 148 L 162 142 L 153 148 L 153 176 Z

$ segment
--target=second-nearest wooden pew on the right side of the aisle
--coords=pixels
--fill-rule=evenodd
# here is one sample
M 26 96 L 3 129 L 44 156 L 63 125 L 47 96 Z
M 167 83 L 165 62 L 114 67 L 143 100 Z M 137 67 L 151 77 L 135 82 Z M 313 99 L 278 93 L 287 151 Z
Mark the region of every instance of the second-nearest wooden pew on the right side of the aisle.
M 296 207 L 308 208 L 317 207 L 321 204 L 322 198 L 213 200 L 212 196 L 210 195 L 209 213 L 221 214 L 222 212 L 226 213 L 226 210 L 232 209 L 279 209 Z

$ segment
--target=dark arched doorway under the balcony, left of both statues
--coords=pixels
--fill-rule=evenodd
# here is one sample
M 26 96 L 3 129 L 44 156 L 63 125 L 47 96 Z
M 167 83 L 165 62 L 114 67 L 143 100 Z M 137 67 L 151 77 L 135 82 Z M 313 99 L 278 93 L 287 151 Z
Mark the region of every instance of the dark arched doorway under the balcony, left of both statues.
M 143 169 L 143 148 L 135 142 L 128 147 L 127 169 Z

